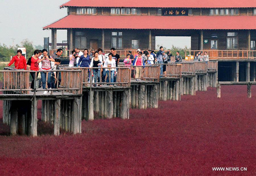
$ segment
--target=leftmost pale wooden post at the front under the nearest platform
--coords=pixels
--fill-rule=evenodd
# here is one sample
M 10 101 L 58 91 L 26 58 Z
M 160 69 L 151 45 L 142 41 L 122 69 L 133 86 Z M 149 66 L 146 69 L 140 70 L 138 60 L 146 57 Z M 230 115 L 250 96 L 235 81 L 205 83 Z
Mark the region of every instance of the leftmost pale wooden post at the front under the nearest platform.
M 37 103 L 38 101 L 34 97 L 31 104 L 31 124 L 30 124 L 30 136 L 37 136 Z

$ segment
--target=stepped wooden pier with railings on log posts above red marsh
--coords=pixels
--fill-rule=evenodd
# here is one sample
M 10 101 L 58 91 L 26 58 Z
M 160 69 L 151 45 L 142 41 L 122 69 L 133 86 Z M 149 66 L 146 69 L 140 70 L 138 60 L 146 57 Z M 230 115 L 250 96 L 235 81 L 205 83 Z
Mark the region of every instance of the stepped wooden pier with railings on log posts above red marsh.
M 61 67 L 54 70 L 61 75 L 61 83 L 58 89 L 47 89 L 51 91 L 47 95 L 45 89 L 30 89 L 29 74 L 35 71 L 0 71 L 3 122 L 10 125 L 11 135 L 37 136 L 37 104 L 42 100 L 41 120 L 54 124 L 54 135 L 58 136 L 60 129 L 76 134 L 81 133 L 83 119 L 128 119 L 130 107 L 158 108 L 158 100 L 177 101 L 181 95 L 217 86 L 216 61 L 168 63 L 166 75 L 160 75 L 159 64 L 147 65 L 137 79 L 131 78 L 130 67 L 116 69 L 116 82 L 110 86 L 103 80 L 93 83 L 90 68 Z

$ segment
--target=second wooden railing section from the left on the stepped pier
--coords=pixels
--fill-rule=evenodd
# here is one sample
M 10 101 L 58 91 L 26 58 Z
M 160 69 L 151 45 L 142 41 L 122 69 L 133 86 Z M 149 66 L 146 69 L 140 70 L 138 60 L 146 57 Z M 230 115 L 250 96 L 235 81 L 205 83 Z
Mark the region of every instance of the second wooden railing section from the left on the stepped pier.
M 93 85 L 105 85 L 105 84 L 110 84 L 107 83 L 107 77 L 106 75 L 105 81 L 102 81 L 102 74 L 100 74 L 100 82 L 94 83 L 93 82 L 93 72 L 90 69 L 96 69 L 96 68 L 86 68 L 86 67 L 68 67 L 68 66 L 61 66 L 61 69 L 64 70 L 81 70 L 81 84 L 83 88 L 86 87 L 93 87 Z M 131 69 L 128 67 L 111 67 L 111 68 L 116 68 L 118 69 L 116 73 L 116 82 L 111 83 L 115 84 L 118 87 L 130 87 L 131 85 Z M 97 67 L 97 69 L 99 69 Z M 101 67 L 100 69 L 109 69 L 108 67 Z M 92 73 L 92 74 L 90 74 Z M 109 80 L 110 81 L 110 80 Z

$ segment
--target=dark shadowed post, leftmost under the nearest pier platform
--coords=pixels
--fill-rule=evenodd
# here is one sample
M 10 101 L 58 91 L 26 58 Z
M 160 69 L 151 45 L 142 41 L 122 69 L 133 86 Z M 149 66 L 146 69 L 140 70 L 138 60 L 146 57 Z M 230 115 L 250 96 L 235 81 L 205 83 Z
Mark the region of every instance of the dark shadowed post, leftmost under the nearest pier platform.
M 12 101 L 11 108 L 11 122 L 10 122 L 10 133 L 11 135 L 17 135 L 18 132 L 18 109 L 15 101 Z

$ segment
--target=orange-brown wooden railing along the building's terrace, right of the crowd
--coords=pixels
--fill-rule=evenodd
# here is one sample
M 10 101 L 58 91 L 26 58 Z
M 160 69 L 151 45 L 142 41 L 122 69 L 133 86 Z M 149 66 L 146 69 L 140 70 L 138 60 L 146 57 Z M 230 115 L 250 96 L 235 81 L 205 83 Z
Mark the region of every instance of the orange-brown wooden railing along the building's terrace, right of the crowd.
M 207 52 L 210 60 L 256 59 L 255 50 L 187 50 L 185 55 L 196 55 L 198 52 Z

